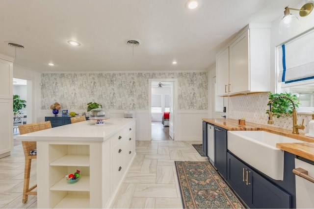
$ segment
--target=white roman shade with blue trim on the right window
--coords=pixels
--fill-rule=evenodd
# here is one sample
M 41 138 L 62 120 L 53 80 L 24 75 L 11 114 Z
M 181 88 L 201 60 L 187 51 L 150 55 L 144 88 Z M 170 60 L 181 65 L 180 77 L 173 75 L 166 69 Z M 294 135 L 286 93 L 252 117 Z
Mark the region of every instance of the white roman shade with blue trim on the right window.
M 314 30 L 277 47 L 282 87 L 314 83 Z

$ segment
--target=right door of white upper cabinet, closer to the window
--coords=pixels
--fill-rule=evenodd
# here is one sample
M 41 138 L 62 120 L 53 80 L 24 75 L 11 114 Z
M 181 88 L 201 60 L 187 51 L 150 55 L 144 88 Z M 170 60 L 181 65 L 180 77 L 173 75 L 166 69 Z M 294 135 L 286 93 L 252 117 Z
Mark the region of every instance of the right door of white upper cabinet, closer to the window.
M 248 30 L 229 47 L 230 52 L 230 92 L 250 91 Z

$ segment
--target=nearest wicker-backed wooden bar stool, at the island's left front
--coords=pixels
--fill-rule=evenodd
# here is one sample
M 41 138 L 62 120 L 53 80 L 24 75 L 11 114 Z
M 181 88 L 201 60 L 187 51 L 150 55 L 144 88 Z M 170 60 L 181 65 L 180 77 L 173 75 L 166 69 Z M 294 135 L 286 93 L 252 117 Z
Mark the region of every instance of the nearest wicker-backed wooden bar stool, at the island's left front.
M 35 131 L 52 128 L 50 121 L 31 123 L 19 126 L 20 134 L 28 134 Z M 31 155 L 30 152 L 36 149 L 36 141 L 22 141 L 24 155 L 25 155 L 25 171 L 24 171 L 24 187 L 22 203 L 27 202 L 28 195 L 37 195 L 37 191 L 32 191 L 37 187 L 37 184 L 29 187 L 31 160 L 37 159 L 37 155 Z

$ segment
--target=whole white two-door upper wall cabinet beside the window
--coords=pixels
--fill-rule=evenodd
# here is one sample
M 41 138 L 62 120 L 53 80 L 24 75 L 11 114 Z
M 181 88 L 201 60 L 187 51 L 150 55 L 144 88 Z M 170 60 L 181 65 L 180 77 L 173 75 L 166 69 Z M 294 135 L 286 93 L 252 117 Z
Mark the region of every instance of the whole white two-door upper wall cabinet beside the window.
M 217 95 L 270 91 L 270 28 L 246 26 L 216 56 Z

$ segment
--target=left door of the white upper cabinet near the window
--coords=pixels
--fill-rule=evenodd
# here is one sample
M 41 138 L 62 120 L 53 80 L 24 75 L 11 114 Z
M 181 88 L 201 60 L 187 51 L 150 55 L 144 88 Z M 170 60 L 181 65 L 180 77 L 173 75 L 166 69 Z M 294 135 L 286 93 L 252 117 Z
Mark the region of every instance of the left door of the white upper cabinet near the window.
M 216 95 L 227 95 L 229 93 L 229 47 L 216 57 L 216 79 Z

